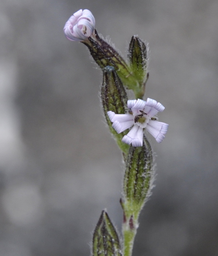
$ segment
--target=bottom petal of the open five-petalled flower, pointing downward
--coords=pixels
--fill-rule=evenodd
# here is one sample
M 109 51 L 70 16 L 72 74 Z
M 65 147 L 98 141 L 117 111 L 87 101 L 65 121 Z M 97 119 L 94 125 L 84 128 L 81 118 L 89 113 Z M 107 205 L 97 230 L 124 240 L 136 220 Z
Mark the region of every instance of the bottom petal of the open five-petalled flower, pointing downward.
M 143 144 L 143 129 L 137 125 L 125 135 L 122 139 L 122 142 L 131 144 L 133 147 L 141 147 Z

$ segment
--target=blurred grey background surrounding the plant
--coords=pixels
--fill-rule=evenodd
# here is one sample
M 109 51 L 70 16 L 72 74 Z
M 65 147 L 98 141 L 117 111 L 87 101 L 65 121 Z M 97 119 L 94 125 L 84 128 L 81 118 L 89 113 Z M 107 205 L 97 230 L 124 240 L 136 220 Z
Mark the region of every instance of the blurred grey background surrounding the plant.
M 63 27 L 90 9 L 124 56 L 149 42 L 146 97 L 165 106 L 153 195 L 133 256 L 218 255 L 218 1 L 0 3 L 0 255 L 89 255 L 101 210 L 120 230 L 121 153 L 99 103 L 101 70 Z

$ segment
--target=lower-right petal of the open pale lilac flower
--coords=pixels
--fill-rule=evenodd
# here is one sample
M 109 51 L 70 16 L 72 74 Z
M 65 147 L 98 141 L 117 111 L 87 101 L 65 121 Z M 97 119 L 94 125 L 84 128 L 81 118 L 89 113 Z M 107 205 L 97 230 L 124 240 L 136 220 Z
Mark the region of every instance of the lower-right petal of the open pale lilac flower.
M 147 124 L 147 131 L 150 132 L 152 136 L 155 137 L 157 142 L 162 142 L 162 140 L 165 138 L 165 134 L 168 130 L 168 124 L 155 121 L 155 120 L 150 120 Z

